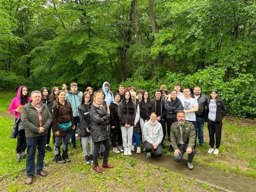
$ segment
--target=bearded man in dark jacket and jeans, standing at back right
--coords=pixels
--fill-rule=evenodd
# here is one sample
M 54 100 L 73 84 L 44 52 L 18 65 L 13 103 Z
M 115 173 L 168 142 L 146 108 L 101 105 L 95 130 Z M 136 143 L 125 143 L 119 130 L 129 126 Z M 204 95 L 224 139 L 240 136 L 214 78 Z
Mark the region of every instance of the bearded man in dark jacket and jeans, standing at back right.
M 198 111 L 196 114 L 196 123 L 198 124 L 198 141 L 199 145 L 204 145 L 204 117 L 207 106 L 207 97 L 201 94 L 201 88 L 196 86 L 193 90 L 192 98 L 195 98 L 198 101 Z

